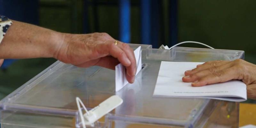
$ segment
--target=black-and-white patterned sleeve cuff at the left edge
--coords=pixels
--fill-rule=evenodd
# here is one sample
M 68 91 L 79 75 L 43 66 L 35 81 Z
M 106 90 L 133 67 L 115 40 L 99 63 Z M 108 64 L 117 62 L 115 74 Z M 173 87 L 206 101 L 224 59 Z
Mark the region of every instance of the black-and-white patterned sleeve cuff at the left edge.
M 7 29 L 12 25 L 12 21 L 0 15 L 0 43 L 2 42 Z

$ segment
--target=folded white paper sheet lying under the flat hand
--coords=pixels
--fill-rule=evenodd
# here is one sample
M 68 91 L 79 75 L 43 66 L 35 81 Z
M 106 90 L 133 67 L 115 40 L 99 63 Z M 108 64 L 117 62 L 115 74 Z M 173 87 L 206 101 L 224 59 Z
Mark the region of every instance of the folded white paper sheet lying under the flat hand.
M 246 84 L 239 80 L 192 87 L 182 82 L 186 70 L 196 68 L 199 62 L 162 61 L 157 77 L 154 97 L 209 98 L 241 102 L 247 99 Z

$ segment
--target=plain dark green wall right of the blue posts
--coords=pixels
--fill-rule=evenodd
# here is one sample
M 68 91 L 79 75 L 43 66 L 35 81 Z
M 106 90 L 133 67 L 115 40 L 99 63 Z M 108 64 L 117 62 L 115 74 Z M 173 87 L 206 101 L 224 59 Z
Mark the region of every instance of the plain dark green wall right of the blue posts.
M 179 41 L 245 51 L 256 63 L 255 0 L 179 0 Z

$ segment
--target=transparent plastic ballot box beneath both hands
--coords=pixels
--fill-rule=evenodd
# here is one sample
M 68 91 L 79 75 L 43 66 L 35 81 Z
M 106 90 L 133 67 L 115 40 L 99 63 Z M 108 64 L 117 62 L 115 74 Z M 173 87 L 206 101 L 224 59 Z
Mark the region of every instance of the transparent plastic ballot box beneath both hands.
M 135 49 L 139 44 L 130 44 Z M 81 128 L 76 97 L 88 109 L 112 95 L 123 103 L 93 128 L 238 127 L 239 103 L 195 98 L 153 97 L 161 61 L 244 59 L 244 51 L 142 46 L 142 70 L 133 84 L 115 92 L 115 71 L 77 68 L 56 61 L 0 102 L 1 128 Z M 181 79 L 181 78 L 180 78 Z

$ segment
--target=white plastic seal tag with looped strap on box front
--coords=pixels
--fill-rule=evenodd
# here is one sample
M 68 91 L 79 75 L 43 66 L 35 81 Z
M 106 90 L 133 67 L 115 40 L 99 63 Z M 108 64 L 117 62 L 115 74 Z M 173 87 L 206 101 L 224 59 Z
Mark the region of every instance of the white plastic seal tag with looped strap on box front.
M 83 125 L 83 128 L 86 128 L 85 125 L 93 124 L 95 121 L 99 120 L 102 116 L 106 115 L 119 105 L 123 103 L 123 99 L 121 99 L 119 96 L 114 95 L 109 97 L 107 100 L 104 100 L 101 102 L 98 106 L 95 108 L 92 108 L 90 111 L 88 111 L 84 103 L 80 100 L 79 97 L 76 97 L 76 105 L 79 111 L 79 115 L 81 118 L 81 122 Z M 83 114 L 82 109 L 80 107 L 80 104 L 86 111 L 86 113 Z

